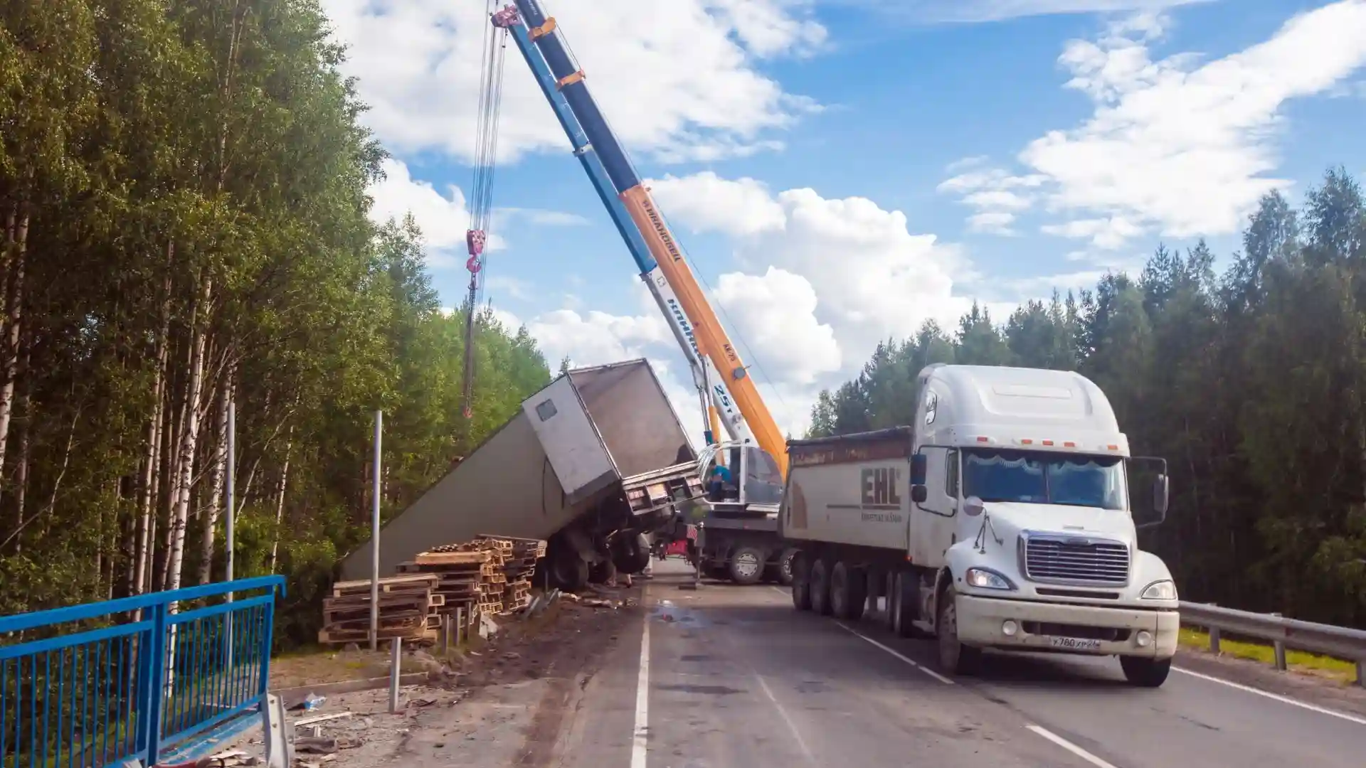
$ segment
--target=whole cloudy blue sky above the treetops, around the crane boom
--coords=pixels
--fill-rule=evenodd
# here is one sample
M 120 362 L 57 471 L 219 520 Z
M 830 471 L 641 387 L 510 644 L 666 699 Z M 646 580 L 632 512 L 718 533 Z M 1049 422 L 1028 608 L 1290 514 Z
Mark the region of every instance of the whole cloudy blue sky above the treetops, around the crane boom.
M 1221 258 L 1270 189 L 1366 175 L 1366 0 L 544 0 L 783 426 L 881 338 Z M 325 0 L 447 305 L 485 0 Z M 642 10 L 645 8 L 645 10 Z M 690 379 L 510 46 L 486 298 L 552 361 Z

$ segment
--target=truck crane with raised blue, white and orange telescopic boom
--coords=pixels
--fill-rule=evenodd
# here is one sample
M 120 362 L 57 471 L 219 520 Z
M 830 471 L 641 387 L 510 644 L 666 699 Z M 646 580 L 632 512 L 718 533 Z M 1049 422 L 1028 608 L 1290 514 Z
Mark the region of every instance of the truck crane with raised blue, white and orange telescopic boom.
M 791 556 L 777 534 L 787 477 L 783 432 L 749 376 L 706 295 L 688 268 L 664 215 L 589 92 L 556 20 L 540 0 L 516 0 L 490 14 L 514 38 L 550 102 L 593 189 L 635 260 L 693 372 L 706 413 L 703 478 L 724 463 L 734 489 L 709 495 L 699 522 L 699 567 L 738 584 L 791 581 Z M 481 234 L 471 234 L 471 242 Z M 723 439 L 719 432 L 724 430 Z M 732 496 L 734 492 L 734 496 Z

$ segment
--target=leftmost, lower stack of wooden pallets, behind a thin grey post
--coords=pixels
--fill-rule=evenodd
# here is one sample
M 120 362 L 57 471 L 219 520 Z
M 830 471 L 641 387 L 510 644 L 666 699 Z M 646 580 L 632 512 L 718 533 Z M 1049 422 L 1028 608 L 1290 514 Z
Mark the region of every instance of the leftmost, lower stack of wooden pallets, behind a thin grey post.
M 434 575 L 398 575 L 380 579 L 380 640 L 433 640 L 430 616 L 445 599 L 436 594 Z M 318 642 L 363 642 L 370 638 L 370 581 L 340 581 L 322 600 Z

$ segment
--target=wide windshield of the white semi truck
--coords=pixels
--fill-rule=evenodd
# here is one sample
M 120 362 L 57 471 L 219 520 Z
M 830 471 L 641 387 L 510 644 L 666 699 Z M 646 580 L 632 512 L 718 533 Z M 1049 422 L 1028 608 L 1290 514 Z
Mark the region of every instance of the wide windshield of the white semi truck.
M 963 451 L 963 496 L 984 502 L 1128 508 L 1124 463 L 1117 456 L 967 450 Z

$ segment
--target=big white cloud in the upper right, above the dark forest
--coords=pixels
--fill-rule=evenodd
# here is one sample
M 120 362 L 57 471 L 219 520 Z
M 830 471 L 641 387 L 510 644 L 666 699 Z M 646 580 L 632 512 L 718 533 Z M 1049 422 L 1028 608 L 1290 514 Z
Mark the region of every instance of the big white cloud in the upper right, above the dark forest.
M 1046 210 L 1075 219 L 1045 232 L 1101 249 L 1153 230 L 1236 232 L 1261 195 L 1291 183 L 1269 175 L 1285 104 L 1330 94 L 1366 66 L 1366 0 L 1299 14 L 1268 41 L 1203 64 L 1191 53 L 1152 59 L 1165 23 L 1142 14 L 1096 41 L 1068 42 L 1059 61 L 1071 72 L 1067 87 L 1094 102 L 1091 118 L 1030 142 L 1019 154 L 1026 174 L 977 169 L 940 190 L 1033 189 Z

